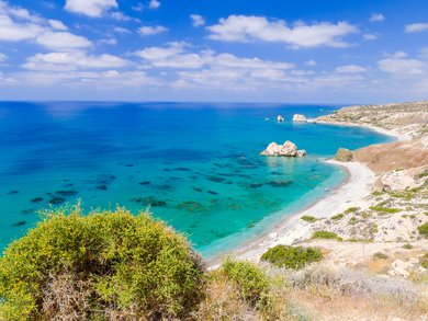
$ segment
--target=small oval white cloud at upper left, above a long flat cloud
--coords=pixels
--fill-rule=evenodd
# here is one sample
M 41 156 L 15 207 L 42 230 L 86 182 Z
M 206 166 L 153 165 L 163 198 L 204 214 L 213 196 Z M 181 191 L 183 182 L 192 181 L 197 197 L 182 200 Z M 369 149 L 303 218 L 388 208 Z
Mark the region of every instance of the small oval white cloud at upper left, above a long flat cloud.
M 67 32 L 46 32 L 36 37 L 36 43 L 54 49 L 87 48 L 92 44 L 86 37 Z

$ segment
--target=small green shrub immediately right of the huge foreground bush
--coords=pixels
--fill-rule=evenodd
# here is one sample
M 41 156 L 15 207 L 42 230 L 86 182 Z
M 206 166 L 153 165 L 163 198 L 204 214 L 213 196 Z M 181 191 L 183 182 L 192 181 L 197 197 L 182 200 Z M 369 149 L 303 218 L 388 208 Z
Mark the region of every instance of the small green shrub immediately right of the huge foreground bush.
M 227 259 L 222 265 L 227 278 L 237 284 L 241 297 L 254 306 L 262 306 L 269 291 L 264 273 L 250 262 Z

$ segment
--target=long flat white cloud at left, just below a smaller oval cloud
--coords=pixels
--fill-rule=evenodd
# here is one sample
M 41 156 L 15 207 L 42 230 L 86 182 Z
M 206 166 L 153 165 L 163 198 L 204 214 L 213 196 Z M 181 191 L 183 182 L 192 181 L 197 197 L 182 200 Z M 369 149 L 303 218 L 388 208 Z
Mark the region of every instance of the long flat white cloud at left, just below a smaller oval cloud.
M 29 70 L 66 71 L 122 68 L 129 61 L 113 55 L 90 56 L 83 51 L 37 54 L 22 66 Z

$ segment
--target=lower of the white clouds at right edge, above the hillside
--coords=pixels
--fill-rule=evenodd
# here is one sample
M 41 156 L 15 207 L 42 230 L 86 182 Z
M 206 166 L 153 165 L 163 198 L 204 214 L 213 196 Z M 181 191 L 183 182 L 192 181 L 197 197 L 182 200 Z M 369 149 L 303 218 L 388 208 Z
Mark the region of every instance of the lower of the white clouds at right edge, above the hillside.
M 378 62 L 382 71 L 392 73 L 394 77 L 421 76 L 427 72 L 428 65 L 417 59 L 405 59 L 403 53 L 382 59 Z

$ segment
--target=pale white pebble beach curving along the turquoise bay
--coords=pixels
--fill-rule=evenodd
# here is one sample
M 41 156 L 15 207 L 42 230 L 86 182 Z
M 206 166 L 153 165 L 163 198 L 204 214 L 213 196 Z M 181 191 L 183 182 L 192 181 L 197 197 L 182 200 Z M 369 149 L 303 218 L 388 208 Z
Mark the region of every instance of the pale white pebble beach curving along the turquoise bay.
M 327 122 L 319 122 L 318 124 L 358 126 L 394 137 L 395 140 L 402 141 L 410 139 L 408 135 L 398 134 L 370 125 Z M 367 205 L 367 200 L 364 198 L 371 194 L 376 181 L 375 173 L 365 164 L 360 162 L 339 162 L 336 160 L 325 160 L 325 162 L 340 167 L 347 172 L 347 179 L 336 188 L 331 190 L 325 197 L 316 200 L 315 203 L 308 204 L 307 207 L 301 210 L 284 216 L 274 226 L 266 229 L 261 236 L 251 238 L 237 248 L 213 257 L 209 264 L 210 268 L 216 268 L 222 259 L 230 254 L 239 260 L 258 262 L 261 254 L 274 245 L 292 245 L 299 241 L 308 239 L 312 234 L 312 228 L 311 223 L 301 220 L 303 215 L 325 218 L 341 213 L 349 207 L 364 207 Z

